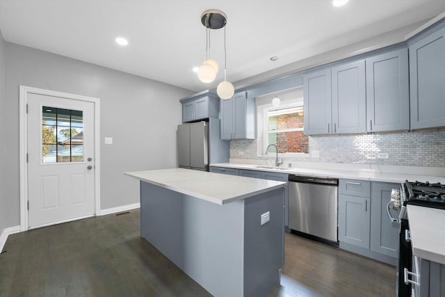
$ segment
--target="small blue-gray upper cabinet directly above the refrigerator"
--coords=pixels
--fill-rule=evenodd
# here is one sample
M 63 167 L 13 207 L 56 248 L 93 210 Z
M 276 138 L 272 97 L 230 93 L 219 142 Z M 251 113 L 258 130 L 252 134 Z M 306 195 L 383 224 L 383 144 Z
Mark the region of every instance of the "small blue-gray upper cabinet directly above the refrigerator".
M 182 104 L 182 122 L 218 118 L 219 98 L 208 90 L 181 99 L 180 102 Z

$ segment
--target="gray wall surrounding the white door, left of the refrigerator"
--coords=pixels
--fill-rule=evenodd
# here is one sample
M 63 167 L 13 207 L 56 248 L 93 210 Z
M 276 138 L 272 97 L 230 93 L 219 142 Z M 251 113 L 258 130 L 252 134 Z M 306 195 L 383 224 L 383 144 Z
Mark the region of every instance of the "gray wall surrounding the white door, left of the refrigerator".
M 176 129 L 179 99 L 193 94 L 131 74 L 31 49 L 6 45 L 6 80 L 1 168 L 8 174 L 1 209 L 6 227 L 19 225 L 19 85 L 56 90 L 100 100 L 101 209 L 139 202 L 136 179 L 124 171 L 177 166 Z M 3 123 L 2 123 L 3 124 Z M 104 137 L 113 137 L 112 145 Z M 4 165 L 4 166 L 3 166 Z

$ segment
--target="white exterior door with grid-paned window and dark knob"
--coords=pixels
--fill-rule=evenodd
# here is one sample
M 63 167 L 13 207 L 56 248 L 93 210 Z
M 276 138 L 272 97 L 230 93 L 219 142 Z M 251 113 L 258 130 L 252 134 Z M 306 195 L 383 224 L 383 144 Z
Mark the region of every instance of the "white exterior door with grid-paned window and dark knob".
M 28 94 L 29 228 L 95 214 L 93 102 Z

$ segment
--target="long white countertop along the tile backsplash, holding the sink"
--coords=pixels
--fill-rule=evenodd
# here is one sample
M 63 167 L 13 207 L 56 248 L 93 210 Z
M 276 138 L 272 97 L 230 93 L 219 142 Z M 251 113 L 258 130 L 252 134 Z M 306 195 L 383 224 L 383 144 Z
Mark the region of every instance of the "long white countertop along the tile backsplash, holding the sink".
M 286 169 L 268 169 L 261 168 L 261 165 L 242 164 L 242 163 L 213 163 L 210 166 L 225 167 L 225 168 L 238 168 L 247 170 L 261 170 L 270 172 L 282 172 L 288 174 L 300 174 L 318 177 L 334 177 L 334 178 L 347 178 L 347 179 L 362 179 L 372 180 L 375 182 L 394 182 L 401 183 L 405 180 L 409 181 L 421 181 L 421 182 L 441 182 L 445 184 L 445 177 L 435 175 L 416 175 L 411 172 L 371 172 L 361 170 L 336 170 L 336 169 L 321 169 L 321 168 L 286 168 Z

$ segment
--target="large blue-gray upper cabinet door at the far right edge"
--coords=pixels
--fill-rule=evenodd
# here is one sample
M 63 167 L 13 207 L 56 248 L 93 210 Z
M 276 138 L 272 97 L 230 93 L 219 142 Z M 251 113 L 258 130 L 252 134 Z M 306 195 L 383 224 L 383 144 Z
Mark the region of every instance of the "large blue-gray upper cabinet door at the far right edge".
M 445 28 L 410 45 L 411 129 L 445 126 Z

